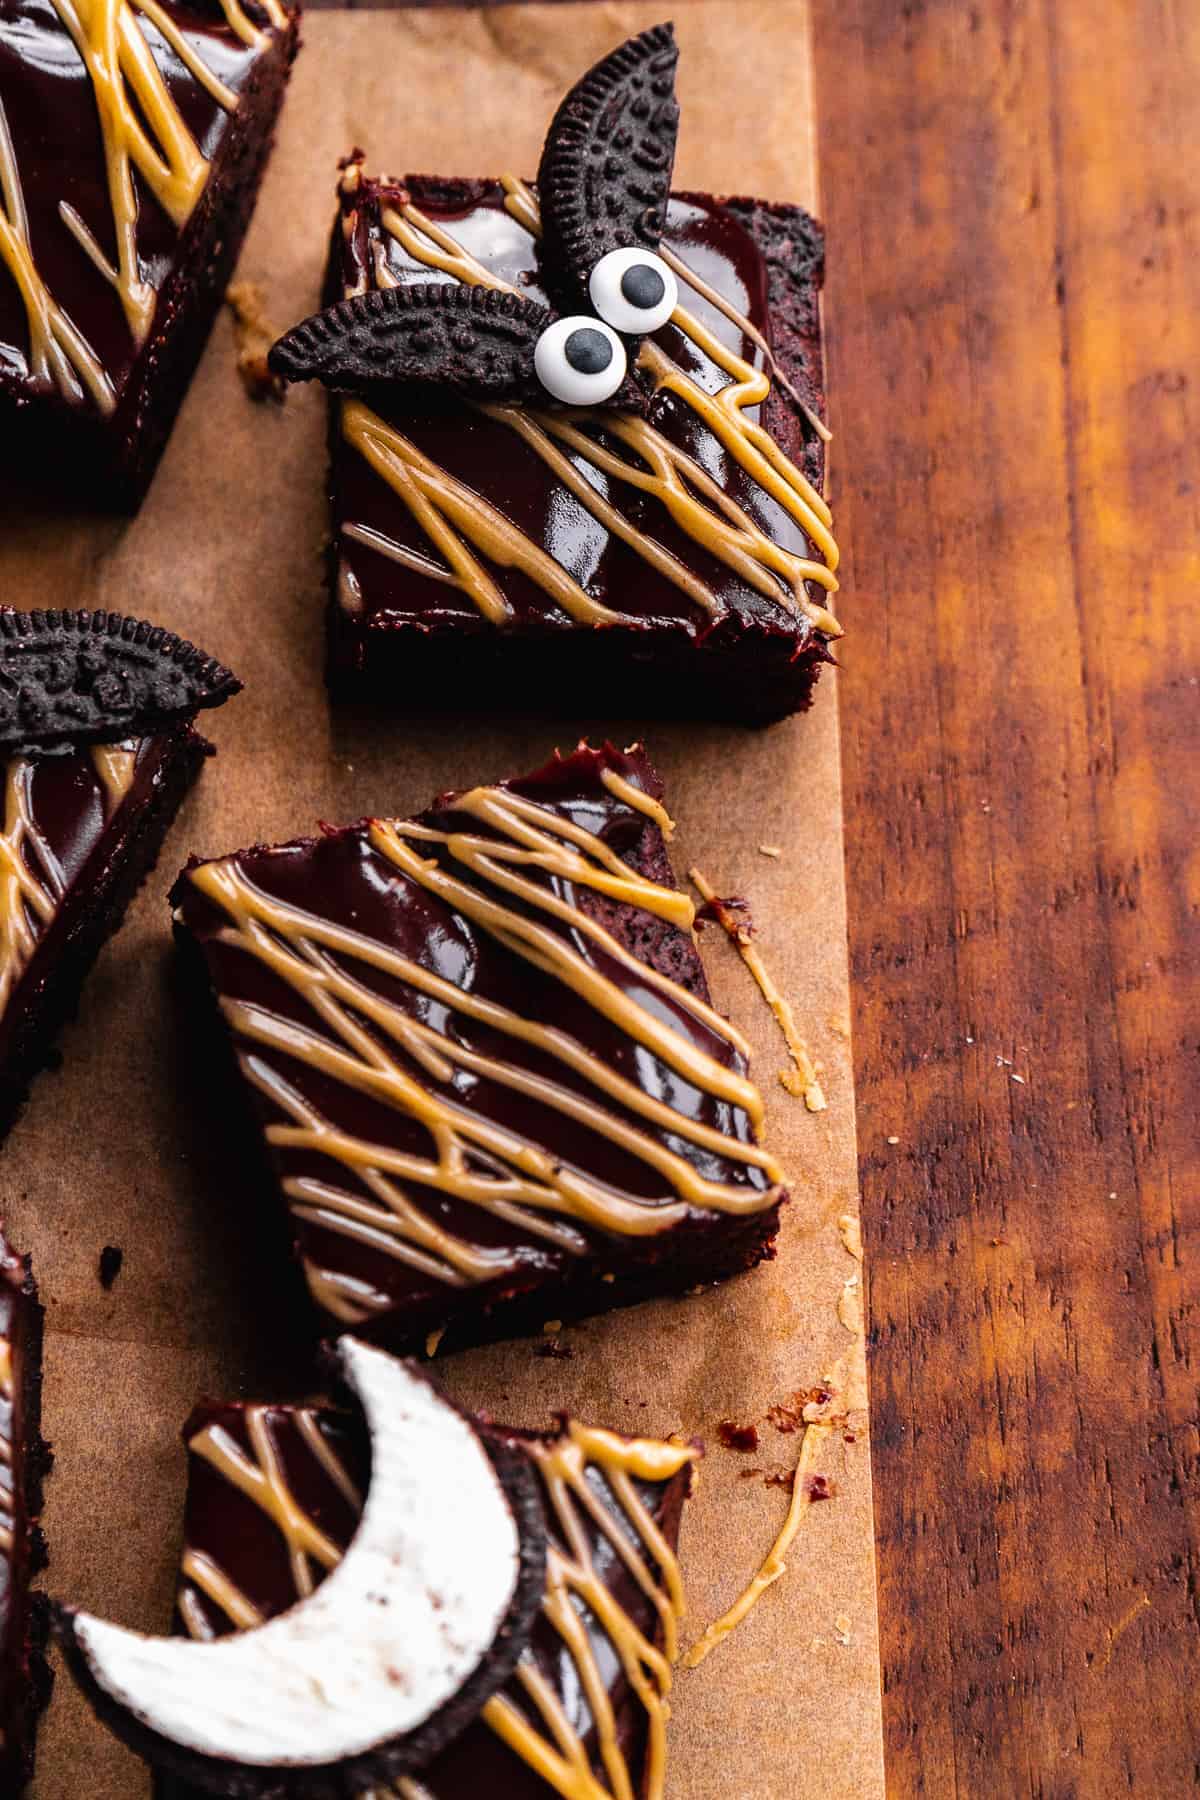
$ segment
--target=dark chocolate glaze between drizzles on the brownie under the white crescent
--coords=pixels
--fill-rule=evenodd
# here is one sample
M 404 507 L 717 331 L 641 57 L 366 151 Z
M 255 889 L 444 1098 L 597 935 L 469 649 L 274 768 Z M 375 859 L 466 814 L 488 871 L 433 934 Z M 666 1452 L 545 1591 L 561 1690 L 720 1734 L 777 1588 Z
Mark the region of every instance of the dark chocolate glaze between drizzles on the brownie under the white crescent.
M 329 1445 L 336 1451 L 342 1465 L 360 1485 L 360 1492 L 365 1492 L 369 1478 L 369 1447 L 360 1422 L 349 1415 L 335 1413 L 331 1409 L 318 1409 L 317 1420 L 322 1436 L 326 1436 Z M 228 1431 L 230 1436 L 243 1445 L 243 1449 L 248 1445 L 245 1408 L 236 1404 L 200 1406 L 185 1426 L 184 1440 L 191 1442 L 200 1429 L 212 1424 Z M 335 1543 L 345 1546 L 354 1528 L 353 1510 L 345 1505 L 344 1496 L 338 1492 L 300 1436 L 300 1431 L 295 1426 L 295 1409 L 273 1406 L 266 1413 L 266 1424 L 272 1442 L 286 1469 L 288 1483 L 297 1503 L 329 1537 L 335 1539 Z M 495 1429 L 495 1435 L 511 1445 L 527 1442 L 527 1435 L 509 1433 L 498 1427 Z M 599 1469 L 594 1467 L 588 1480 L 597 1499 L 617 1519 L 622 1519 L 622 1512 L 612 1499 L 604 1476 Z M 689 1487 L 689 1471 L 684 1469 L 669 1481 L 635 1481 L 633 1487 L 662 1530 L 667 1544 L 675 1548 L 678 1539 L 680 1512 Z M 587 1534 L 592 1561 L 601 1580 L 610 1589 L 617 1604 L 633 1618 L 637 1627 L 653 1638 L 655 1613 L 651 1602 L 633 1582 L 603 1534 L 590 1521 L 587 1525 Z M 551 1537 L 554 1541 L 554 1534 L 551 1534 Z M 207 1552 L 207 1555 L 212 1557 L 212 1561 L 266 1616 L 273 1616 L 293 1604 L 295 1584 L 281 1534 L 252 1499 L 246 1499 L 246 1496 L 225 1481 L 210 1463 L 196 1454 L 189 1454 L 184 1544 L 187 1550 Z M 318 1575 L 320 1571 L 315 1570 L 313 1573 Z M 209 1622 L 210 1631 L 214 1634 L 228 1631 L 230 1624 L 219 1607 L 212 1606 L 212 1602 L 209 1602 L 193 1582 L 187 1582 L 185 1586 L 189 1588 L 194 1604 L 201 1609 L 203 1618 Z M 630 1690 L 608 1636 L 597 1627 L 590 1615 L 585 1613 L 583 1616 L 588 1631 L 588 1642 L 592 1643 L 601 1674 L 608 1685 L 608 1694 L 617 1717 L 617 1735 L 630 1769 L 633 1771 L 637 1789 L 646 1715 L 640 1703 Z M 184 1629 L 178 1618 L 176 1629 Z M 594 1721 L 588 1703 L 579 1688 L 578 1669 L 560 1634 L 543 1618 L 538 1618 L 534 1625 L 531 1651 L 536 1656 L 542 1672 L 552 1683 L 567 1719 L 579 1733 L 588 1751 L 594 1753 Z M 335 1645 L 331 1645 L 331 1654 L 336 1654 Z M 527 1708 L 522 1690 L 515 1681 L 511 1681 L 504 1692 L 522 1712 Z M 597 1778 L 603 1778 L 603 1771 L 599 1769 Z M 536 1777 L 533 1769 L 482 1721 L 470 1724 L 453 1744 L 443 1750 L 425 1769 L 421 1769 L 419 1780 L 434 1800 L 468 1800 L 468 1796 L 470 1800 L 477 1800 L 477 1796 L 484 1795 L 504 1795 L 504 1800 L 547 1800 L 547 1795 L 554 1791 L 540 1780 L 540 1777 Z M 157 1793 L 160 1800 L 193 1800 L 193 1789 L 169 1777 L 158 1778 Z

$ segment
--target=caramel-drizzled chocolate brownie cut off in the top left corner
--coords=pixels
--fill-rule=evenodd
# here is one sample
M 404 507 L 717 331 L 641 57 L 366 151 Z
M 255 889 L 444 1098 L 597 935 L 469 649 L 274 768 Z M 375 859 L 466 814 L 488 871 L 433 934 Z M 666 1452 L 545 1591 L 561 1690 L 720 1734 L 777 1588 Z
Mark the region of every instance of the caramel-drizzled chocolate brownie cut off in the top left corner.
M 110 68 L 101 0 L 0 0 L 0 434 L 22 477 L 142 499 L 250 221 L 297 18 L 124 0 Z

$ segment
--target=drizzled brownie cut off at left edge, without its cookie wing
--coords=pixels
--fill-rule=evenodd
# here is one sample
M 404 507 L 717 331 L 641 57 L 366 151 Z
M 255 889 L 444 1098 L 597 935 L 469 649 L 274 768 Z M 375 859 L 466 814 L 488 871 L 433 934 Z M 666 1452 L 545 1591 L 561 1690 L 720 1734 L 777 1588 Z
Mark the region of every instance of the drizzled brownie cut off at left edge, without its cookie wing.
M 0 761 L 0 1136 L 153 869 L 209 751 L 182 727 Z

